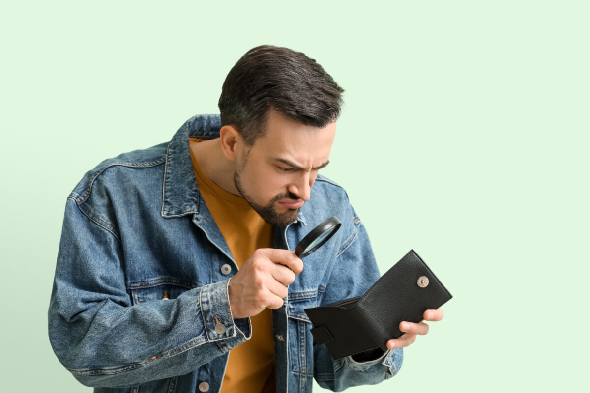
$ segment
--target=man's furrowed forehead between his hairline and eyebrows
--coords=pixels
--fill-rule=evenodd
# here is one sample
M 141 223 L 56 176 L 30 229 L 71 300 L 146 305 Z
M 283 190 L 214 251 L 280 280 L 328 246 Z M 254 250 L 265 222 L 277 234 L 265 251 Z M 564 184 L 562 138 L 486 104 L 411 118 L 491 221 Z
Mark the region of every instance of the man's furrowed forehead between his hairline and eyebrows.
M 336 135 L 336 123 L 318 128 L 306 126 L 277 111 L 268 114 L 267 130 L 258 138 L 254 148 L 266 156 L 299 160 L 300 164 L 319 164 L 326 161 Z

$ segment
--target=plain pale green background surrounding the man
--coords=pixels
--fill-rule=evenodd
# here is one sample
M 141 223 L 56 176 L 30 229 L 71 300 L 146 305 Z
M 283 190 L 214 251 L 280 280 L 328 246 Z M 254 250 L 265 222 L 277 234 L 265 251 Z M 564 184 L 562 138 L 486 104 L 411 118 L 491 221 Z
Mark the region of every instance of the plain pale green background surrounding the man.
M 414 248 L 454 295 L 398 376 L 349 391 L 585 387 L 587 4 L 2 5 L 0 390 L 90 390 L 47 338 L 65 198 L 104 158 L 216 113 L 227 72 L 266 43 L 346 89 L 323 174 L 346 187 L 381 271 Z

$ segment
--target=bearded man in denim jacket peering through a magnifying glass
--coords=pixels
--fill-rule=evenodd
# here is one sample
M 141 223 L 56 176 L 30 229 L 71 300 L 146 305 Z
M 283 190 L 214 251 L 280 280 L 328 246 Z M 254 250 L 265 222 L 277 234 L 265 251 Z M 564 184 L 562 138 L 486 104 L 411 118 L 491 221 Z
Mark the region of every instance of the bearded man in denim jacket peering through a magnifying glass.
M 427 325 L 402 324 L 385 354 L 335 361 L 303 311 L 379 278 L 345 191 L 318 174 L 342 92 L 306 55 L 257 47 L 228 74 L 221 117 L 195 116 L 170 143 L 84 176 L 68 197 L 49 310 L 51 344 L 78 381 L 286 392 L 310 391 L 314 377 L 339 391 L 396 374 Z M 294 246 L 330 216 L 342 227 L 303 263 Z

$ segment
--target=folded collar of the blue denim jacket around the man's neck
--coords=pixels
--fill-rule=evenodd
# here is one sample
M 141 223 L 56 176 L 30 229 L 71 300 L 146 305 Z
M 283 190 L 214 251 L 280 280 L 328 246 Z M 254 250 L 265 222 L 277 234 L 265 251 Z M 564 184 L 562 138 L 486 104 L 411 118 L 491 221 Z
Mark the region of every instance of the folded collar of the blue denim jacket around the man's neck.
M 162 217 L 199 214 L 201 193 L 192 170 L 188 138 L 214 139 L 219 137 L 221 119 L 217 114 L 195 115 L 176 131 L 168 144 L 162 186 Z M 297 221 L 307 225 L 303 213 Z

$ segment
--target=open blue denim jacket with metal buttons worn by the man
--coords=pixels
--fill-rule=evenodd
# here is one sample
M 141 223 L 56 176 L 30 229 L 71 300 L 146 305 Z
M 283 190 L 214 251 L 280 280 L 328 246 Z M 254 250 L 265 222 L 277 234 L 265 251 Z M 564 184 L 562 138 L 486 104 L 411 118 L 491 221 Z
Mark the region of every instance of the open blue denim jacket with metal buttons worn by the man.
M 189 136 L 214 138 L 220 126 L 218 115 L 195 116 L 170 143 L 103 161 L 68 196 L 49 334 L 65 368 L 96 392 L 195 392 L 201 382 L 217 392 L 228 352 L 252 334 L 249 318 L 232 319 L 228 282 L 238 267 L 189 154 Z M 348 196 L 322 176 L 297 222 L 276 229 L 274 246 L 293 250 L 330 216 L 342 227 L 304 259 L 273 311 L 278 392 L 311 391 L 312 377 L 335 391 L 376 384 L 401 367 L 401 349 L 359 363 L 313 345 L 303 310 L 362 295 L 379 278 Z

